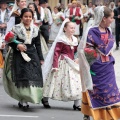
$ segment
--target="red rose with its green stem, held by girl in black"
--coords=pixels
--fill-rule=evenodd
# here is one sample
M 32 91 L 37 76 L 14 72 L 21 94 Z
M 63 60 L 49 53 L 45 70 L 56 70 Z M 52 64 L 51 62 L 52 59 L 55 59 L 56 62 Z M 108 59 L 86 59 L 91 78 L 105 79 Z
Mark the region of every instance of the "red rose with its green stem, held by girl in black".
M 5 42 L 6 42 L 6 43 L 14 42 L 14 43 L 16 43 L 16 44 L 21 43 L 21 42 L 19 42 L 19 41 L 16 40 L 16 36 L 15 36 L 15 34 L 14 34 L 12 31 L 8 32 L 8 33 L 5 35 Z

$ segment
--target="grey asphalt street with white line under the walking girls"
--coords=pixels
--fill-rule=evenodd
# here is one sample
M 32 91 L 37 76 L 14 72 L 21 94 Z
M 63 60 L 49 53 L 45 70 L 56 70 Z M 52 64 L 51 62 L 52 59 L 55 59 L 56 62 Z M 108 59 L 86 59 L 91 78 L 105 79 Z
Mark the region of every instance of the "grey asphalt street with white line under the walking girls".
M 114 50 L 113 53 L 117 83 L 120 86 L 120 50 Z M 82 120 L 83 117 L 81 112 L 72 109 L 73 102 L 50 100 L 51 109 L 44 109 L 41 104 L 30 104 L 28 112 L 21 111 L 17 104 L 16 100 L 5 93 L 0 80 L 0 120 Z

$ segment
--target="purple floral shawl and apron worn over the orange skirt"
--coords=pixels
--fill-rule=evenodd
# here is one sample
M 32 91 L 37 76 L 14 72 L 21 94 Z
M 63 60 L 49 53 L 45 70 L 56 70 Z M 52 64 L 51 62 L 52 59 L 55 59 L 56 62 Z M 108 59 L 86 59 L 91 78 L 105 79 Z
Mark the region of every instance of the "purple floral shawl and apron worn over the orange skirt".
M 114 72 L 115 61 L 110 54 L 113 44 L 114 39 L 108 29 L 104 33 L 101 33 L 97 27 L 89 30 L 87 45 L 94 47 L 99 53 L 96 60 L 90 65 L 90 69 L 95 73 L 95 75 L 91 75 L 93 91 L 88 91 L 92 108 L 104 108 L 120 102 Z M 109 60 L 103 62 L 101 54 L 108 55 Z

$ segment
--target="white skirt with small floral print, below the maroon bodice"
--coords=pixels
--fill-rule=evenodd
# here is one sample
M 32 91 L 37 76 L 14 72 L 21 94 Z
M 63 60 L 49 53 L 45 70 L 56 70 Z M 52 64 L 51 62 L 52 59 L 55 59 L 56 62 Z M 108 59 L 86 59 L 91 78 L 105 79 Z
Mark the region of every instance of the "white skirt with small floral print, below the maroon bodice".
M 73 69 L 65 59 L 59 60 L 58 69 L 57 72 L 49 73 L 43 87 L 43 96 L 61 101 L 81 99 L 79 72 Z

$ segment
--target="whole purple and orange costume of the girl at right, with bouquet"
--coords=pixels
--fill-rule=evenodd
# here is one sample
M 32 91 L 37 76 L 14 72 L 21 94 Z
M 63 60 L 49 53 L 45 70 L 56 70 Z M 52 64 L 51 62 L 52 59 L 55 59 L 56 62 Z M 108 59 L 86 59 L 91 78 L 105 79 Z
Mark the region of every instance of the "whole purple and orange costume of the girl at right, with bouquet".
M 113 44 L 114 37 L 109 29 L 100 32 L 98 27 L 90 28 L 84 52 L 90 65 L 93 90 L 83 92 L 82 112 L 94 120 L 120 118 L 120 92 L 111 54 Z

